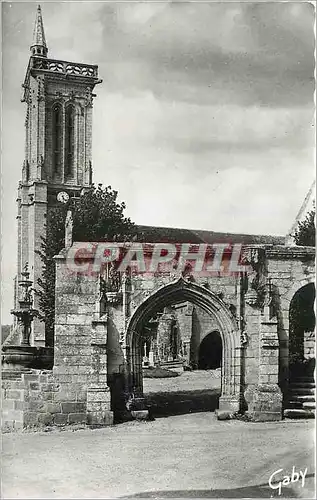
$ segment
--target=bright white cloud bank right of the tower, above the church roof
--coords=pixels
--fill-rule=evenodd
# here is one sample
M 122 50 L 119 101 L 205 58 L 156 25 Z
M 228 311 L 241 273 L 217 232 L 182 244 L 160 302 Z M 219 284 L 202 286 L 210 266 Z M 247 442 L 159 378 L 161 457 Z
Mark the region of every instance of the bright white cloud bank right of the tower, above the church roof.
M 283 234 L 314 176 L 311 118 L 109 94 L 95 108 L 95 178 L 120 186 L 138 223 Z

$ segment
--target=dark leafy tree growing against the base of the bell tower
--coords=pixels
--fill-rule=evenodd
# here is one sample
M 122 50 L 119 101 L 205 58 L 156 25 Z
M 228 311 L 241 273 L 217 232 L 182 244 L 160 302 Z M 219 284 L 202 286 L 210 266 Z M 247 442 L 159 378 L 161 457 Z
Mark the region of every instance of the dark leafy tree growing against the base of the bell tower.
M 55 318 L 55 262 L 65 246 L 65 219 L 72 211 L 74 241 L 127 241 L 137 232 L 133 222 L 124 216 L 125 203 L 117 202 L 118 192 L 111 186 L 94 185 L 79 198 L 71 198 L 48 211 L 46 237 L 42 239 L 38 252 L 43 262 L 42 277 L 38 280 L 40 318 L 45 323 L 47 346 L 54 342 Z

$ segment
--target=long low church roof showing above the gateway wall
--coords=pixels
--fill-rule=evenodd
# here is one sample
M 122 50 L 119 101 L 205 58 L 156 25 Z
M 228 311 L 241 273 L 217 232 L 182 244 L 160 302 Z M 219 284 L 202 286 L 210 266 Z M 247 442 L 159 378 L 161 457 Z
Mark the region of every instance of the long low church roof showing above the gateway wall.
M 284 236 L 238 234 L 137 225 L 137 241 L 147 243 L 241 243 L 244 245 L 284 245 Z

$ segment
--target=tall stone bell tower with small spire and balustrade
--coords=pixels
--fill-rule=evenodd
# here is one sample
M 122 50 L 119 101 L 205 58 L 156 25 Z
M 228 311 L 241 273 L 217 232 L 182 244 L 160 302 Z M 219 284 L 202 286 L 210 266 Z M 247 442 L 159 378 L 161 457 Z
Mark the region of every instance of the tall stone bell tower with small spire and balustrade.
M 22 102 L 26 103 L 25 157 L 18 188 L 17 279 L 28 263 L 33 286 L 42 274 L 37 254 L 51 207 L 92 183 L 93 89 L 98 66 L 48 57 L 41 7 L 36 12 Z M 17 305 L 17 292 L 15 293 Z M 34 297 L 34 307 L 38 307 Z M 33 343 L 45 345 L 44 324 L 34 321 Z

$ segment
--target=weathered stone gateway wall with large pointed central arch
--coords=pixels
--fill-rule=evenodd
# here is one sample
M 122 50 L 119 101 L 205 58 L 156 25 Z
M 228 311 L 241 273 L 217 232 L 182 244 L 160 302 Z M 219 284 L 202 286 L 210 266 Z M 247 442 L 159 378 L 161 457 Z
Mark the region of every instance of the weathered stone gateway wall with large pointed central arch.
M 81 254 L 75 264 L 85 272 L 75 272 L 68 259 L 82 245 L 87 243 L 74 243 L 56 256 L 53 374 L 65 400 L 85 409 L 81 412 L 85 421 L 112 422 L 118 409 L 117 380 L 122 384 L 122 401 L 142 399 L 144 358 L 154 364 L 173 361 L 183 366 L 197 360 L 204 339 L 193 339 L 193 324 L 188 321 L 193 308 L 202 311 L 209 330 L 220 335 L 219 409 L 247 410 L 254 420 L 282 418 L 290 383 L 291 303 L 312 287 L 307 307 L 313 307 L 313 248 L 246 245 L 234 272 L 225 264 L 222 271 L 195 274 L 189 259 L 179 269 L 172 266 L 166 272 L 133 272 L 128 266 L 120 274 L 111 272 L 111 267 L 109 271 L 108 264 L 99 273 L 90 272 L 94 250 Z M 149 247 L 142 246 L 145 255 L 151 253 Z M 227 252 L 228 262 L 232 252 L 232 248 Z M 226 252 L 223 256 L 226 262 Z M 171 306 L 179 306 L 182 330 L 174 353 Z M 303 331 L 302 336 L 304 354 L 312 358 L 312 333 Z

